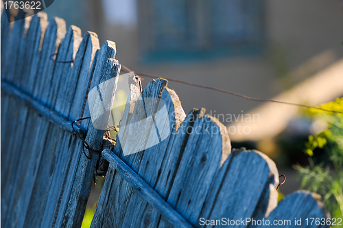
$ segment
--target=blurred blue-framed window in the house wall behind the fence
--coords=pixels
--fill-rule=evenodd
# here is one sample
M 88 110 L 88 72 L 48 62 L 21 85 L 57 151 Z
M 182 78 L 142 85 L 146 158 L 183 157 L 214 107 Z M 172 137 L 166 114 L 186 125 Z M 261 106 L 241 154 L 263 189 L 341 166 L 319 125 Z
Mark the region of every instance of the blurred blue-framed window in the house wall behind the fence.
M 263 0 L 139 0 L 139 46 L 145 61 L 259 54 Z

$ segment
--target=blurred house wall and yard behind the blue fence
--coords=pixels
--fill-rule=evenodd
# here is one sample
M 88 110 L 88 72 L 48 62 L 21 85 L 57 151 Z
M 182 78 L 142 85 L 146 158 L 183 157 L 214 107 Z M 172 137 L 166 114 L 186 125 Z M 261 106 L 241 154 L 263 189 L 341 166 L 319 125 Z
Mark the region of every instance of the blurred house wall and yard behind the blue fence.
M 55 0 L 45 12 L 96 32 L 101 44 L 115 41 L 116 58 L 136 72 L 314 106 L 343 95 L 341 1 Z M 308 165 L 305 143 L 327 122 L 296 106 L 168 87 L 185 113 L 204 107 L 228 126 L 233 148 L 270 156 L 287 176 L 281 192 L 299 189 L 292 165 Z

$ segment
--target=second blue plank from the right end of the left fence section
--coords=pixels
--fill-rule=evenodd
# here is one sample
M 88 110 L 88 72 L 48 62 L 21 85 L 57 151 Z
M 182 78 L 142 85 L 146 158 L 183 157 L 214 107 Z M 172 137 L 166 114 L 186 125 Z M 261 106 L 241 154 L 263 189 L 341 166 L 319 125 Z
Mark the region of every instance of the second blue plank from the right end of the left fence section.
M 91 38 L 93 37 L 93 38 Z M 74 66 L 77 68 L 78 64 L 82 64 L 82 68 L 80 70 L 80 76 L 78 77 L 78 83 L 75 84 L 75 94 L 73 100 L 71 101 L 71 113 L 69 113 L 69 119 L 78 119 L 82 112 L 82 105 L 84 103 L 84 99 L 87 93 L 87 88 L 89 84 L 88 70 L 91 67 L 91 64 L 94 59 L 93 53 L 95 53 L 99 49 L 99 41 L 97 40 L 96 34 L 91 32 L 87 32 L 84 37 L 82 38 L 82 42 L 80 44 L 80 48 L 78 53 L 75 56 Z M 82 62 L 82 63 L 79 63 Z M 89 73 L 93 73 L 91 70 Z M 76 76 L 77 77 L 77 76 Z M 78 127 L 78 124 L 74 124 L 74 128 Z M 82 137 L 85 137 L 83 135 Z M 77 142 L 72 142 L 71 144 L 75 145 L 75 151 L 73 148 L 68 146 L 69 141 L 72 140 L 71 136 L 67 133 L 64 133 L 64 149 L 62 149 L 62 153 L 58 157 L 58 162 L 56 163 L 56 169 L 54 172 L 53 183 L 51 183 L 51 187 L 49 190 L 49 196 L 47 200 L 47 206 L 45 207 L 45 212 L 43 218 L 49 218 L 43 220 L 40 227 L 49 227 L 49 225 L 54 224 L 56 226 L 56 219 L 57 216 L 51 218 L 49 217 L 50 214 L 56 214 L 56 208 L 65 207 L 65 203 L 62 203 L 62 194 L 64 190 L 68 190 L 68 187 L 65 185 L 65 180 L 67 179 L 69 170 L 75 170 L 75 163 L 77 159 L 75 159 L 75 155 L 82 146 L 81 141 L 78 140 Z M 75 140 L 75 139 L 73 139 Z M 74 166 L 71 166 L 73 165 Z M 72 174 L 72 173 L 71 173 Z M 73 175 L 73 174 L 72 174 Z M 62 206 L 61 206 L 62 203 Z M 59 211 L 60 209 L 58 209 Z M 55 221 L 54 221 L 55 220 Z M 57 226 L 56 226 L 57 227 Z

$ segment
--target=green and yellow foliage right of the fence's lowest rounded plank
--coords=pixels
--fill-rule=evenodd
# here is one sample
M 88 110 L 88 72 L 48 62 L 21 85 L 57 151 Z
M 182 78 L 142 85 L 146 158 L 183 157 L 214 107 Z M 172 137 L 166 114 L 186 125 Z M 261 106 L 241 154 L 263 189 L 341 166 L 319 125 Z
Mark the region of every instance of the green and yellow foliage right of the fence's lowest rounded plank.
M 322 109 L 343 111 L 343 98 L 322 104 Z M 311 115 L 319 115 L 328 128 L 317 135 L 310 135 L 305 144 L 305 154 L 309 155 L 309 166 L 294 166 L 302 176 L 302 187 L 321 194 L 332 217 L 343 217 L 343 115 L 311 109 Z M 329 155 L 329 162 L 315 164 L 311 158 L 316 148 L 322 148 Z

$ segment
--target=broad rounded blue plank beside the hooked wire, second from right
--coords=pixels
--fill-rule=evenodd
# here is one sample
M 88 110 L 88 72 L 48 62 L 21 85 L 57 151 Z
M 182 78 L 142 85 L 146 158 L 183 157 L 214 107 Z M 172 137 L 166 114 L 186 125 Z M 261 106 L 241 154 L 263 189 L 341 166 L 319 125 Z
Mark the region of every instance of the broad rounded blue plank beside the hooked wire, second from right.
M 199 218 L 236 220 L 265 216 L 276 206 L 278 177 L 275 163 L 261 152 L 233 152 L 213 179 Z

